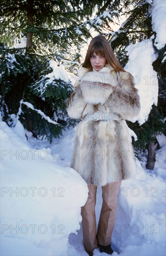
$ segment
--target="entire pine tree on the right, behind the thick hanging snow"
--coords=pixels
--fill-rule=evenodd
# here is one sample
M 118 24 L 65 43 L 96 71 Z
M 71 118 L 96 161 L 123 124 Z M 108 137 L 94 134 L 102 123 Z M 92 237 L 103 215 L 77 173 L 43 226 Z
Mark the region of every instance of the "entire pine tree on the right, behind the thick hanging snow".
M 166 47 L 159 50 L 155 46 L 156 34 L 153 32 L 152 19 L 149 13 L 151 4 L 152 2 L 145 0 L 115 0 L 112 7 L 115 10 L 119 10 L 121 15 L 126 15 L 127 19 L 122 23 L 118 31 L 114 32 L 112 29 L 111 32 L 108 30 L 105 33 L 123 67 L 128 62 L 125 47 L 130 44 L 139 44 L 142 40 L 153 38 L 153 48 L 159 54 L 158 59 L 153 62 L 153 68 L 157 72 L 160 85 L 158 106 L 152 106 L 148 119 L 144 124 L 139 125 L 138 122 L 128 122 L 128 126 L 134 130 L 138 137 L 137 141 L 133 141 L 134 148 L 140 151 L 147 149 L 148 151 L 146 166 L 148 169 L 154 168 L 155 143 L 158 143 L 157 135 L 164 133 L 166 130 L 164 121 L 166 116 L 166 108 L 164 107 L 166 106 L 166 97 L 164 96 L 166 92 L 166 65 L 164 65 L 166 63 L 166 58 L 164 58 Z

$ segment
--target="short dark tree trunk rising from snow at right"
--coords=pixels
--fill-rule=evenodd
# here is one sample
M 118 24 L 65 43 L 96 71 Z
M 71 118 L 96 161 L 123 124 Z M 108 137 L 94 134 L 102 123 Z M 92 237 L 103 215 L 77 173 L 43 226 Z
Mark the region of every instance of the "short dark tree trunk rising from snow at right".
M 148 152 L 148 155 L 147 155 L 146 168 L 149 170 L 153 170 L 154 164 L 156 162 L 156 151 L 155 151 L 154 141 L 149 141 L 147 145 L 147 152 Z

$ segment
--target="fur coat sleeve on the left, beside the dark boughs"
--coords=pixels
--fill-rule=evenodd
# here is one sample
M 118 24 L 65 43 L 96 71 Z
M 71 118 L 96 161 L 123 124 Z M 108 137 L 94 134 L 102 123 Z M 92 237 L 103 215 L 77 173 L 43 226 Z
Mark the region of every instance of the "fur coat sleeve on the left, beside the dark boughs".
M 86 103 L 83 99 L 81 88 L 78 86 L 76 91 L 70 95 L 70 98 L 67 101 L 66 110 L 70 118 L 80 119 L 85 107 Z

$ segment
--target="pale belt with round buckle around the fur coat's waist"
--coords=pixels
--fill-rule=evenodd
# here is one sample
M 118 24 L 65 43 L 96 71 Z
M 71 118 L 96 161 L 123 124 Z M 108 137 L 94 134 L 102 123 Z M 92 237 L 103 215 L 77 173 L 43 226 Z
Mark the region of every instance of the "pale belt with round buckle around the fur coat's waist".
M 108 113 L 94 111 L 83 117 L 83 121 L 121 121 L 121 115 L 118 113 Z

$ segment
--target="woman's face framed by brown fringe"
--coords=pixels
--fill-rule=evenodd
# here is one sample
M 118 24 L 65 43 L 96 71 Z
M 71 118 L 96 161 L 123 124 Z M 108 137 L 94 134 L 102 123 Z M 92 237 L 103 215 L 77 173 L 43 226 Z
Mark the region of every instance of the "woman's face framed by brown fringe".
M 90 63 L 96 71 L 99 71 L 102 69 L 102 67 L 105 67 L 106 62 L 107 59 L 104 55 L 96 55 L 94 52 L 93 55 L 90 56 Z

